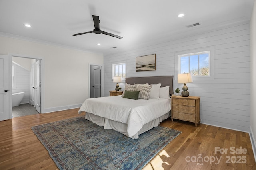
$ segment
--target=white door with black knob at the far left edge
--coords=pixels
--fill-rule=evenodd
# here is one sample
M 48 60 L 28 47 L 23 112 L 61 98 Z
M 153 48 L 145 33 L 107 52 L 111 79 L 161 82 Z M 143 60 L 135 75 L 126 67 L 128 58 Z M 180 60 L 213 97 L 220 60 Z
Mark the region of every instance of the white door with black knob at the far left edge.
M 9 119 L 9 60 L 0 55 L 0 121 Z

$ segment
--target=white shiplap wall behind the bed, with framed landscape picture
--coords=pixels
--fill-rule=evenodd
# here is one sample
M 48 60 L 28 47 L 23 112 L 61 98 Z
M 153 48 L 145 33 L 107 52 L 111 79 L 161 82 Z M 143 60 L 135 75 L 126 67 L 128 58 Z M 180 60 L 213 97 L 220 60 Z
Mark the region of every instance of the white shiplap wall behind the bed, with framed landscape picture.
M 140 49 L 104 55 L 104 95 L 114 90 L 112 63 L 127 61 L 127 77 L 175 77 L 175 53 L 214 47 L 214 80 L 187 84 L 190 96 L 200 96 L 201 123 L 249 131 L 250 125 L 250 23 L 170 40 Z M 135 58 L 156 54 L 156 71 L 136 72 Z M 174 80 L 174 89 L 183 84 Z M 121 83 L 124 86 L 124 82 Z

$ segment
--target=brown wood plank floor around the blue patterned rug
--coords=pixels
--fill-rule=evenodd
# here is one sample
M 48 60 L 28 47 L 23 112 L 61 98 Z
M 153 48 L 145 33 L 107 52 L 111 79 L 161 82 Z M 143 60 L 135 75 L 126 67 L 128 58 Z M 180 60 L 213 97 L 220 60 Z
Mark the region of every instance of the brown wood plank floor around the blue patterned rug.
M 0 170 L 58 169 L 31 126 L 79 116 L 84 113 L 78 115 L 78 109 L 70 109 L 1 121 Z M 195 127 L 194 123 L 170 119 L 160 125 L 182 133 L 156 154 L 144 170 L 256 169 L 248 133 L 204 124 Z M 216 147 L 220 151 L 216 151 Z M 224 149 L 228 149 L 226 153 L 222 152 Z

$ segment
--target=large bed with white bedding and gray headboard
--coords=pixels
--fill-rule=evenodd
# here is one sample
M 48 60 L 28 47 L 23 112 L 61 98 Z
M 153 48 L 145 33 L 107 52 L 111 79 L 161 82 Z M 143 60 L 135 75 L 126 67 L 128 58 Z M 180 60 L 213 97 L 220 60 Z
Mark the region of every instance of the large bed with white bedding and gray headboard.
M 150 95 L 159 89 L 158 96 L 138 98 L 138 100 L 123 98 L 128 91 L 126 87 L 136 85 L 136 90 L 143 94 L 142 89 L 149 89 Z M 173 94 L 173 76 L 132 77 L 126 78 L 124 94 L 119 96 L 89 98 L 84 101 L 78 113 L 86 112 L 85 119 L 103 126 L 104 129 L 114 129 L 132 139 L 141 133 L 159 125 L 170 117 L 170 94 Z M 150 86 L 150 87 L 149 87 Z M 134 90 L 132 90 L 134 91 Z M 127 93 L 126 93 L 127 92 Z M 130 93 L 130 92 L 129 92 Z M 139 96 L 141 96 L 139 94 Z

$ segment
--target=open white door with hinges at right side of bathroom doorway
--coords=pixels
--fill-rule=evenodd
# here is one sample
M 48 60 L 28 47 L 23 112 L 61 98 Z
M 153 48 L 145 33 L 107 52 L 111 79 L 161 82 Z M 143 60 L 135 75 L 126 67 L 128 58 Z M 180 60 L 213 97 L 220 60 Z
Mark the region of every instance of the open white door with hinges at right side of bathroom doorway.
M 36 110 L 41 113 L 41 60 L 36 61 Z

